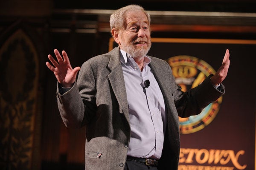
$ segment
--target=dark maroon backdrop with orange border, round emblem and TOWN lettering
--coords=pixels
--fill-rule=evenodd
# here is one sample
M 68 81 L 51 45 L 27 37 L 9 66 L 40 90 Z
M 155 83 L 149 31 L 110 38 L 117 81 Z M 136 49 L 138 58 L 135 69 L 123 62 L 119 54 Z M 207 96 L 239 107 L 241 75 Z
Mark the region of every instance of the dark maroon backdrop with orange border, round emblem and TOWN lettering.
M 111 38 L 109 50 L 115 46 Z M 256 40 L 152 38 L 148 55 L 169 63 L 183 91 L 214 74 L 226 49 L 226 93 L 198 116 L 180 119 L 179 170 L 255 170 Z

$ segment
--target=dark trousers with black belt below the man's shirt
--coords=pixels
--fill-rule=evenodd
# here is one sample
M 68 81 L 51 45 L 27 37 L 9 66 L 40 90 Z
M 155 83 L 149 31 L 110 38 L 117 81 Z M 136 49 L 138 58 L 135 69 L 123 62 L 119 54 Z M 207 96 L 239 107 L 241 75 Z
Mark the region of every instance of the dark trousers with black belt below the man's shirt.
M 125 162 L 125 170 L 157 170 L 157 167 L 151 167 L 142 162 L 128 159 Z

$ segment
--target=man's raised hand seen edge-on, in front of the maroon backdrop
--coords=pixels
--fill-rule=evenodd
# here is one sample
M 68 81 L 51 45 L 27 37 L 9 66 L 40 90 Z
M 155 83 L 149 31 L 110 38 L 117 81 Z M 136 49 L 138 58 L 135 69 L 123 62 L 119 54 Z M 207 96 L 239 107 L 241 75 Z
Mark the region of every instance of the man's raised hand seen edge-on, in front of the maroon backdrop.
M 218 69 L 218 71 L 212 76 L 211 82 L 213 85 L 218 85 L 220 84 L 226 77 L 227 77 L 227 71 L 230 66 L 230 54 L 229 50 L 226 50 L 226 54 L 223 58 L 222 65 Z

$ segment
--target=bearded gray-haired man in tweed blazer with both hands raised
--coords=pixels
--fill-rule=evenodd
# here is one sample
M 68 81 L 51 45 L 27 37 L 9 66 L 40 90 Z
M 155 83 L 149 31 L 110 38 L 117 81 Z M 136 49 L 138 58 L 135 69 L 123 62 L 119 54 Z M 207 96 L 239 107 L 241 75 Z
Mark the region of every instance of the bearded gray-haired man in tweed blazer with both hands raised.
M 224 94 L 229 51 L 215 75 L 183 92 L 167 62 L 146 56 L 150 15 L 142 7 L 116 10 L 110 26 L 119 47 L 84 62 L 81 70 L 71 67 L 65 51 L 62 58 L 54 50 L 58 62 L 48 55 L 61 118 L 66 126 L 86 126 L 86 170 L 177 170 L 178 116 L 198 114 Z

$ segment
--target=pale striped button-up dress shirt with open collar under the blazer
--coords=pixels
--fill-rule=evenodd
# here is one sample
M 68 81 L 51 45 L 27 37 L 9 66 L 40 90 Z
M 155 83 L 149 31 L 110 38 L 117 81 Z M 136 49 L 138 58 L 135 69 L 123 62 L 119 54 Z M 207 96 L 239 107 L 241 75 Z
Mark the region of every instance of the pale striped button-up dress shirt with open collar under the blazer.
M 163 94 L 144 57 L 143 71 L 134 59 L 120 50 L 120 61 L 128 99 L 131 139 L 128 156 L 160 159 L 166 129 L 166 112 Z M 150 81 L 145 88 L 145 80 Z

